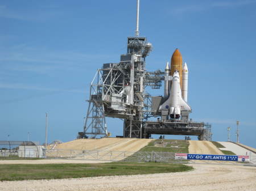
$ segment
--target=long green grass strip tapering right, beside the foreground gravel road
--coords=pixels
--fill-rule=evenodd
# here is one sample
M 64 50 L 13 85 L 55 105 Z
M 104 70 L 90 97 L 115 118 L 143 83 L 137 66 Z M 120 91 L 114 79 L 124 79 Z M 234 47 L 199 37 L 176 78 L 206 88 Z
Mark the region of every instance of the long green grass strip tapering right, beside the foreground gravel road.
M 0 181 L 68 179 L 93 176 L 144 175 L 193 169 L 184 164 L 100 163 L 100 164 L 1 164 Z

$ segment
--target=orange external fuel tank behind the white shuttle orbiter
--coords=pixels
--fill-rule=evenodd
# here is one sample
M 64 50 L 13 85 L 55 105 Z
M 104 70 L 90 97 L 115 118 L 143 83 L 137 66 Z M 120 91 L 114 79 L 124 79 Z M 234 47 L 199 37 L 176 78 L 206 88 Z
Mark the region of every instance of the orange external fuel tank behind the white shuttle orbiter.
M 170 75 L 174 75 L 174 71 L 179 71 L 180 75 L 180 88 L 182 90 L 182 56 L 179 50 L 176 48 L 171 58 L 171 73 Z

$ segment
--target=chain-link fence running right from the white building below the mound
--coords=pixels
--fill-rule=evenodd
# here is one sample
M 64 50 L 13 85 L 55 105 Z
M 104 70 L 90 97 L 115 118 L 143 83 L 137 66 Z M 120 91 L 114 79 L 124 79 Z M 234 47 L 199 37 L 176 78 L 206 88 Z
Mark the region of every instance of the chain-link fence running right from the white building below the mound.
M 174 152 L 128 152 L 128 151 L 101 151 L 101 150 L 46 150 L 46 158 L 104 160 L 124 162 L 164 162 L 164 163 L 227 163 L 241 164 L 241 162 L 224 162 L 209 160 L 175 159 Z M 250 155 L 250 164 L 256 165 L 256 155 Z

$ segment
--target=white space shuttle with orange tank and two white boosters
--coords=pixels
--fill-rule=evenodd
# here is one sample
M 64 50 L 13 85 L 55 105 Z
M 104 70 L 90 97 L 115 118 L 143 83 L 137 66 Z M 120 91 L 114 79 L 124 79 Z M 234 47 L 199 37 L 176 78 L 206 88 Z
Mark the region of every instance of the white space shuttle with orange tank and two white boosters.
M 188 114 L 192 109 L 187 103 L 187 97 L 188 66 L 187 63 L 182 66 L 182 56 L 176 49 L 171 58 L 171 70 L 168 62 L 164 70 L 164 101 L 159 107 L 162 116 L 188 121 Z

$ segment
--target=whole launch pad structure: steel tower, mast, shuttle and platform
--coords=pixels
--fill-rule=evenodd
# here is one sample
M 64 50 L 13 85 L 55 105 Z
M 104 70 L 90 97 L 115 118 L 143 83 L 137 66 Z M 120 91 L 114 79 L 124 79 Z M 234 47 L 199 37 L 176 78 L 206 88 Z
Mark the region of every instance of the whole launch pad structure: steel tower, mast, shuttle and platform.
M 210 124 L 189 120 L 188 66 L 178 49 L 163 71 L 147 71 L 146 57 L 152 50 L 146 37 L 139 37 L 139 1 L 135 37 L 127 38 L 127 53 L 118 63 L 104 63 L 90 83 L 89 105 L 84 131 L 78 138 L 108 136 L 106 117 L 123 120 L 123 137 L 150 138 L 151 134 L 197 135 L 210 140 Z M 163 64 L 164 66 L 164 64 Z M 159 89 L 163 96 L 151 96 L 146 88 Z M 155 121 L 149 121 L 151 118 Z

